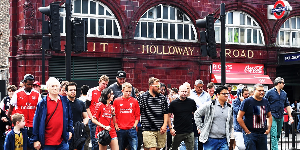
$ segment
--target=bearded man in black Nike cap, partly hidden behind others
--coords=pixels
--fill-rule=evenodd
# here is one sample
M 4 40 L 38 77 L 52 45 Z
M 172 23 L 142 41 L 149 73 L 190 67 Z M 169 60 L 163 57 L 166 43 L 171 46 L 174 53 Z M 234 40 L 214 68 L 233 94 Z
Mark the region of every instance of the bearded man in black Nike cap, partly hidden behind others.
M 115 98 L 113 98 L 113 101 L 116 98 L 119 98 L 120 96 L 123 95 L 122 84 L 125 83 L 125 81 L 126 81 L 125 71 L 123 71 L 123 70 L 118 71 L 116 79 L 117 79 L 117 82 L 108 87 L 108 88 L 113 90 L 113 95 L 115 96 Z M 134 87 L 133 86 L 132 86 L 131 97 L 137 99 L 137 97 L 135 95 L 135 92 L 134 92 Z M 113 101 L 111 102 L 111 104 L 113 104 Z

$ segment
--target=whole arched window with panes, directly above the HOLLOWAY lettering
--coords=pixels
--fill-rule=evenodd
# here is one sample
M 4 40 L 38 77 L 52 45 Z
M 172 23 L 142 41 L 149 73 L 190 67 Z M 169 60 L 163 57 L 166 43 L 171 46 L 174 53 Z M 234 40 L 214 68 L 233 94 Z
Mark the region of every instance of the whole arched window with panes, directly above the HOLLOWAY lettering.
M 159 4 L 147 10 L 134 32 L 134 39 L 196 42 L 196 30 L 181 10 Z

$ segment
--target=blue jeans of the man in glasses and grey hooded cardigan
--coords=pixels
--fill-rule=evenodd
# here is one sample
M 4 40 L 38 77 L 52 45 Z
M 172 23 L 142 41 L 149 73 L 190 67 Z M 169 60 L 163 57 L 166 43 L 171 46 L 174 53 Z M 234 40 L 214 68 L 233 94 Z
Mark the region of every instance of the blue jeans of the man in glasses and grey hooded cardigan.
M 203 143 L 203 149 L 205 150 L 228 150 L 228 148 L 226 137 L 222 139 L 208 137 L 207 141 Z

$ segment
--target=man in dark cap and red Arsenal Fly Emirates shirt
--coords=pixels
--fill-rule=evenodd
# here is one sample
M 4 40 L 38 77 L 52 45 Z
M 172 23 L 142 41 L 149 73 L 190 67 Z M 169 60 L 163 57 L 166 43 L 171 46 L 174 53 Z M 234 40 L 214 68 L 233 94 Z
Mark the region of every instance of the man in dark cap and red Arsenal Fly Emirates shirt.
M 12 111 L 15 108 L 14 113 L 24 114 L 27 128 L 27 135 L 30 138 L 32 136 L 32 121 L 35 115 L 35 109 L 38 101 L 41 101 L 41 94 L 35 89 L 32 89 L 35 78 L 31 74 L 24 76 L 23 88 L 15 91 L 13 97 L 10 100 L 10 106 L 8 108 L 7 116 L 11 117 Z

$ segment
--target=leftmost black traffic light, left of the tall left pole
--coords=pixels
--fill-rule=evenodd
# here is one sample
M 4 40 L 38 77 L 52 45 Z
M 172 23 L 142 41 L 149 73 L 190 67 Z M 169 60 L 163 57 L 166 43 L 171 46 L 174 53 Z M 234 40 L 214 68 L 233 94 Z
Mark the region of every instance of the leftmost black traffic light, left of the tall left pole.
M 59 16 L 59 3 L 50 3 L 47 7 L 39 7 L 38 10 L 41 13 L 50 17 L 50 21 L 42 22 L 43 33 L 43 49 L 52 49 L 53 51 L 61 51 L 60 46 L 60 16 Z M 49 34 L 44 36 L 44 34 Z

